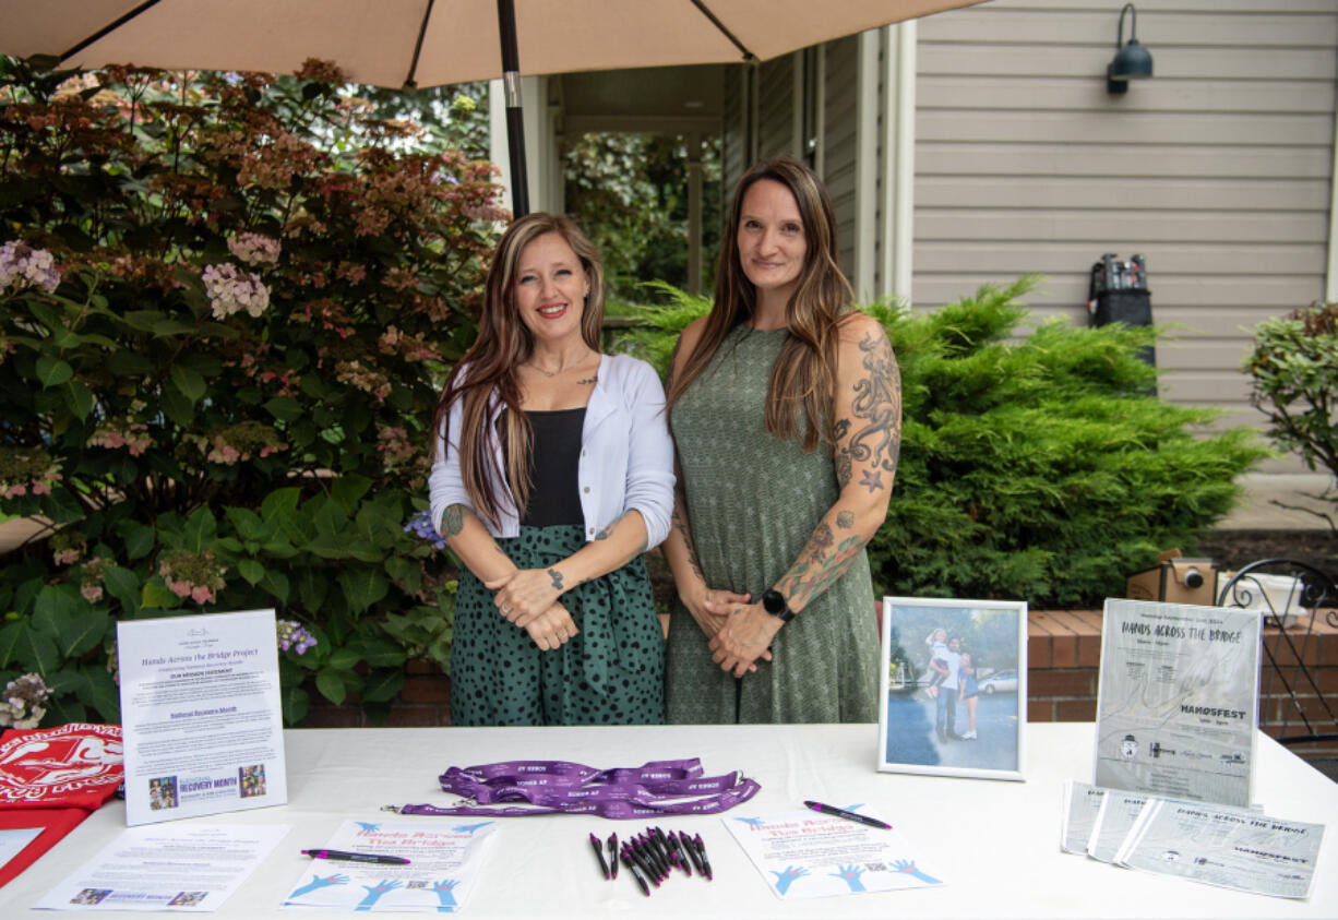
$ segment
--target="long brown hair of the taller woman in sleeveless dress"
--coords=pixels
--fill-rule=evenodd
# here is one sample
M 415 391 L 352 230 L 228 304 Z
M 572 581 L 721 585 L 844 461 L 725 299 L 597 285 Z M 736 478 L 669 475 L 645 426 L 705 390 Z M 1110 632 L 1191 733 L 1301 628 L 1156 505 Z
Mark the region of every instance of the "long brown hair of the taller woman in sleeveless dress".
M 735 189 L 716 266 L 716 302 L 682 370 L 669 381 L 668 404 L 672 408 L 682 397 L 710 364 L 729 330 L 751 320 L 757 309 L 757 289 L 748 281 L 739 258 L 739 222 L 744 195 L 763 179 L 779 182 L 795 197 L 807 243 L 795 292 L 785 304 L 789 336 L 771 373 L 767 431 L 780 439 L 797 440 L 805 451 L 812 451 L 822 440 L 830 449 L 835 444 L 831 404 L 836 388 L 838 324 L 852 293 L 838 259 L 836 215 L 827 187 L 811 168 L 789 156 L 755 164 Z M 804 407 L 803 435 L 796 432 L 797 402 Z

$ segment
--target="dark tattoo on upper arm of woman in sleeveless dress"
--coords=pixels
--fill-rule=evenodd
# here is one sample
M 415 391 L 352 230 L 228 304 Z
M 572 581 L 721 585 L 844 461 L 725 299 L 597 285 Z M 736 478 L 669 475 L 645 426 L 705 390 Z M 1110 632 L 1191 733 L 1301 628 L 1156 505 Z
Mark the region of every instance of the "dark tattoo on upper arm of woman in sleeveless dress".
M 872 467 L 864 472 L 860 485 L 876 492 L 883 488 L 879 471 L 896 475 L 902 445 L 902 380 L 884 336 L 864 336 L 859 350 L 864 353 L 863 366 L 868 373 L 855 381 L 852 419 L 839 420 L 835 429 L 839 437 L 855 429 L 847 448 L 850 459 Z

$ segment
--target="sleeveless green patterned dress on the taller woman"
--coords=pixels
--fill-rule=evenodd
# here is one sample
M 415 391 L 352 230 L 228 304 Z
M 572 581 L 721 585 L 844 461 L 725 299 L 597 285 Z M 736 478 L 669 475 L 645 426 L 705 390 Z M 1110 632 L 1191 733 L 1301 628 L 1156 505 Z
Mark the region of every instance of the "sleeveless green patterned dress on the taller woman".
M 732 330 L 672 413 L 706 584 L 747 591 L 753 602 L 799 559 L 839 492 L 823 445 L 805 453 L 767 433 L 767 388 L 787 336 Z M 676 600 L 665 661 L 669 722 L 876 722 L 879 635 L 863 551 L 781 627 L 772 654 L 736 681 L 710 661 L 706 637 Z

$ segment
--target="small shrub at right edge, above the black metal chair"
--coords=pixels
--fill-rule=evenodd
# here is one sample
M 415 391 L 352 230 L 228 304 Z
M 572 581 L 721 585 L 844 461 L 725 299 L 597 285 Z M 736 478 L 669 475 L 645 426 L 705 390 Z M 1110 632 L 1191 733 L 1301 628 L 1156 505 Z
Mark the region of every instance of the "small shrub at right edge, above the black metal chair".
M 1250 401 L 1268 419 L 1272 443 L 1338 481 L 1338 304 L 1311 304 L 1260 322 L 1244 369 L 1254 381 Z M 1331 484 L 1325 497 L 1338 503 Z

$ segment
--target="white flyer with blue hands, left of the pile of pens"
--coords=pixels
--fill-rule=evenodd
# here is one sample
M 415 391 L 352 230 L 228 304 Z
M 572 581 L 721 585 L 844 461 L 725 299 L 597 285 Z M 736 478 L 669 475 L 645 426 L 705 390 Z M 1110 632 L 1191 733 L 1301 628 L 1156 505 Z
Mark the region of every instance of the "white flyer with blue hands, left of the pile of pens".
M 496 828 L 492 818 L 345 821 L 326 841 L 328 849 L 408 862 L 313 858 L 284 907 L 454 913 L 474 888 Z

